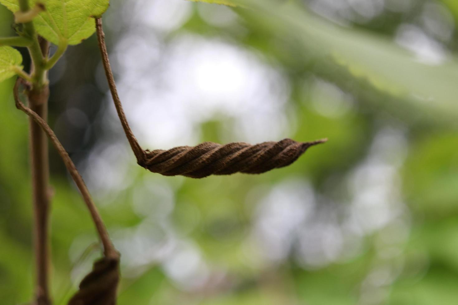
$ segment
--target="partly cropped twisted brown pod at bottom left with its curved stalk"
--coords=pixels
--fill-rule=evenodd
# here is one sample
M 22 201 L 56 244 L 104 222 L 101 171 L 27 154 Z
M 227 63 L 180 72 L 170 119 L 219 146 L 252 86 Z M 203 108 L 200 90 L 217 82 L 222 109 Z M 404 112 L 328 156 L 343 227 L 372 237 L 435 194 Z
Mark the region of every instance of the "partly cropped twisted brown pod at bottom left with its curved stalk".
M 65 151 L 59 139 L 57 139 L 54 131 L 49 125 L 32 109 L 26 107 L 19 97 L 19 86 L 22 79 L 17 79 L 14 86 L 14 99 L 16 107 L 25 112 L 32 118 L 49 137 L 49 140 L 54 145 L 60 157 L 64 161 L 67 170 L 70 172 L 71 177 L 76 183 L 84 202 L 89 209 L 93 222 L 98 232 L 98 236 L 104 246 L 104 257 L 94 263 L 93 270 L 81 282 L 80 290 L 73 296 L 70 303 L 71 305 L 87 305 L 87 304 L 100 304 L 111 305 L 116 303 L 116 290 L 119 283 L 119 252 L 113 246 L 108 231 L 98 213 L 86 184 L 84 183 L 80 173 L 76 169 L 75 164 L 71 161 L 70 156 Z

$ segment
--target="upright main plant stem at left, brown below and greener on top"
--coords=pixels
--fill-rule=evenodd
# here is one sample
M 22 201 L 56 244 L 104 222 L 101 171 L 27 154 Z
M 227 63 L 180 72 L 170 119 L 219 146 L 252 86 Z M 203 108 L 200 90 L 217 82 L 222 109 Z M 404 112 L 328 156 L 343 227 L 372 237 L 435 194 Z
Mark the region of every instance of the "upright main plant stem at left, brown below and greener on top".
M 22 13 L 30 11 L 28 0 L 19 0 Z M 23 23 L 23 36 L 31 44 L 27 47 L 32 59 L 31 90 L 27 92 L 30 109 L 44 122 L 48 116 L 49 86 L 45 60 L 49 52 L 49 42 L 39 38 L 32 21 Z M 49 274 L 51 251 L 49 243 L 49 157 L 48 141 L 39 124 L 29 120 L 30 129 L 30 158 L 33 188 L 33 245 L 35 252 L 35 300 L 36 305 L 50 305 L 51 295 Z

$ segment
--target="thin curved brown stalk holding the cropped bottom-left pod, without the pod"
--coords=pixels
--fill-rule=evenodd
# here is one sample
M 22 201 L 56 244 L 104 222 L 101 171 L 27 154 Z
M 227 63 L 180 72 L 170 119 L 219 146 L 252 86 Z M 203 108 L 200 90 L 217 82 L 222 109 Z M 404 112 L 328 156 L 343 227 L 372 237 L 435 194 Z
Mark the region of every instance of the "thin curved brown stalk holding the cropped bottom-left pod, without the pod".
M 112 244 L 112 242 L 111 242 L 111 240 L 109 238 L 109 235 L 108 235 L 108 232 L 107 232 L 107 230 L 105 228 L 105 225 L 104 225 L 100 215 L 98 214 L 97 207 L 93 203 L 91 195 L 89 194 L 89 191 L 87 190 L 86 184 L 84 183 L 80 173 L 76 169 L 75 164 L 73 163 L 73 161 L 71 161 L 70 156 L 67 154 L 67 152 L 65 151 L 64 147 L 62 146 L 62 144 L 60 144 L 59 139 L 57 139 L 54 131 L 49 127 L 48 123 L 46 123 L 44 121 L 44 119 L 41 118 L 36 112 L 34 112 L 32 109 L 26 107 L 21 102 L 20 97 L 19 97 L 19 86 L 20 86 L 21 82 L 22 82 L 22 80 L 18 78 L 16 80 L 16 84 L 14 86 L 13 93 L 14 93 L 14 99 L 15 99 L 15 102 L 16 102 L 16 107 L 19 110 L 22 110 L 23 112 L 25 112 L 30 118 L 33 119 L 33 121 L 35 123 L 37 123 L 43 129 L 44 133 L 48 135 L 49 140 L 54 145 L 55 149 L 57 150 L 57 152 L 59 153 L 60 157 L 64 161 L 65 166 L 67 167 L 67 170 L 70 172 L 71 177 L 75 181 L 76 186 L 80 190 L 80 192 L 82 194 L 82 197 L 84 199 L 84 202 L 86 203 L 87 208 L 89 209 L 89 212 L 91 213 L 91 216 L 93 218 L 94 224 L 95 224 L 96 229 L 98 231 L 98 235 L 100 237 L 100 240 L 102 241 L 102 244 L 104 245 L 104 255 L 105 255 L 105 257 L 114 257 L 114 258 L 119 257 L 118 252 L 114 248 L 114 246 L 113 246 L 113 244 Z

